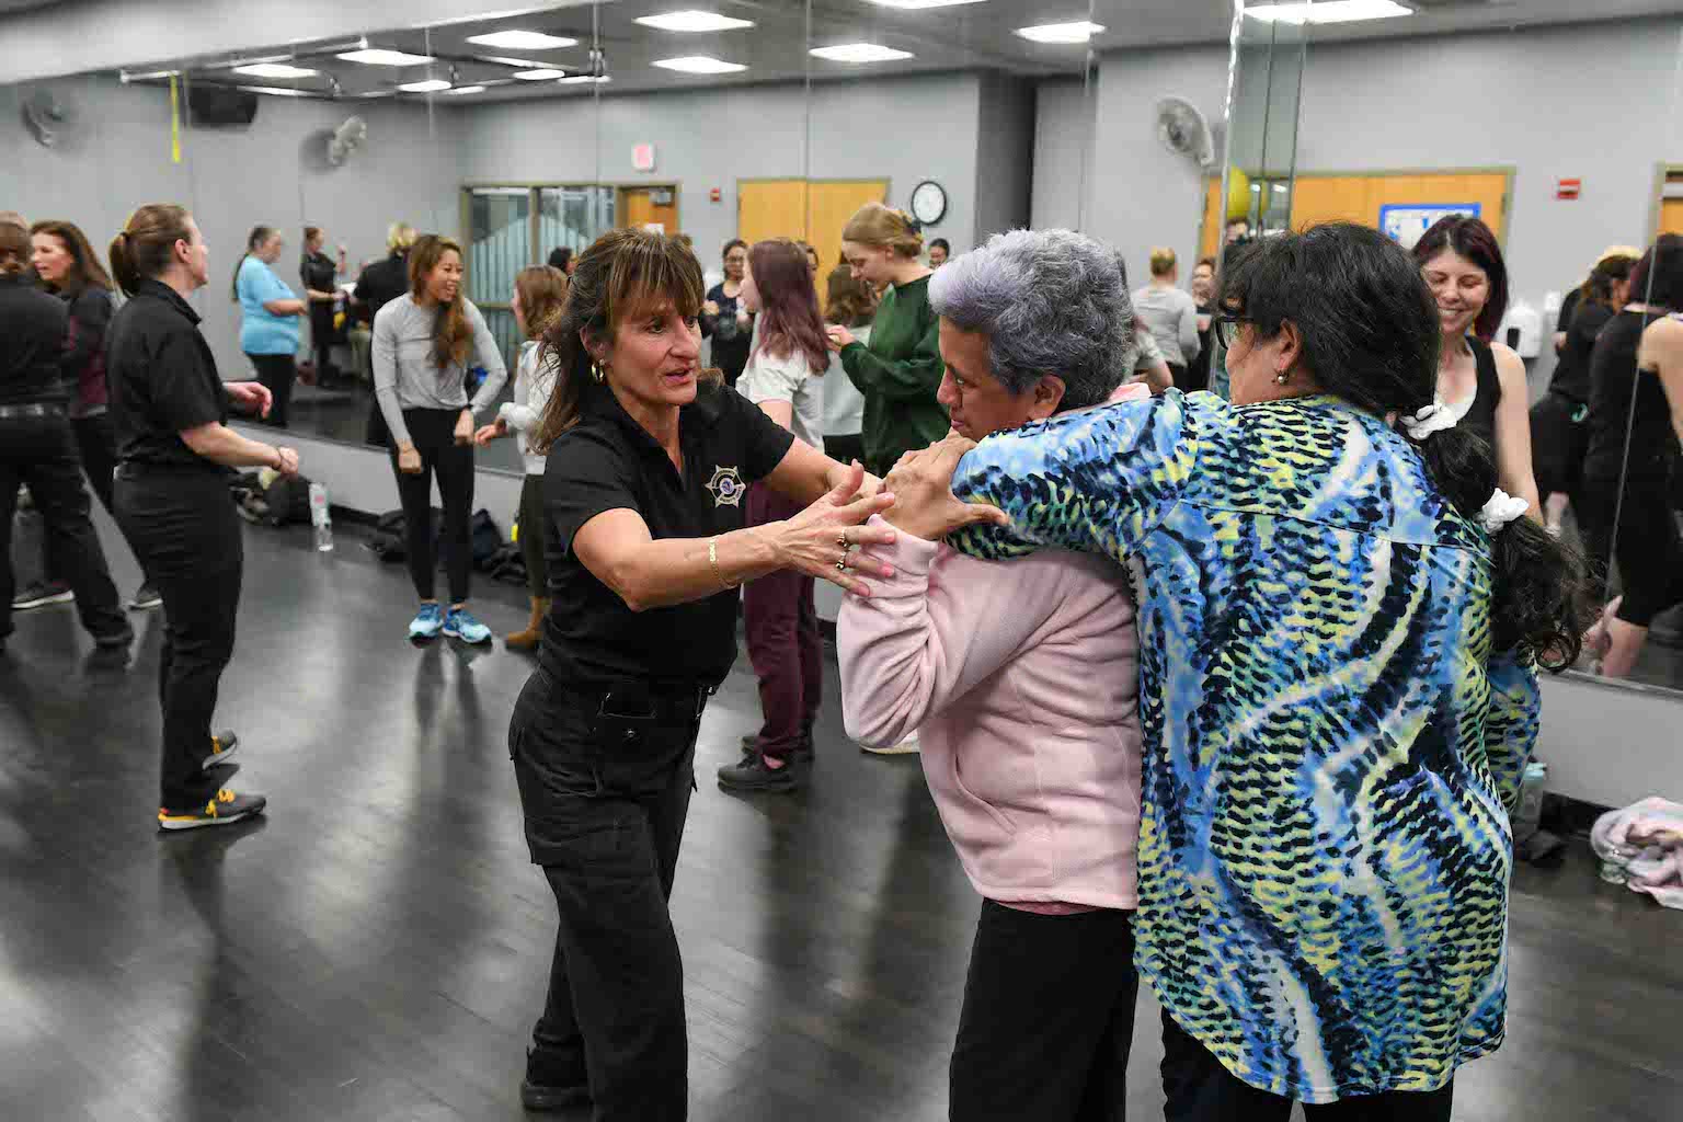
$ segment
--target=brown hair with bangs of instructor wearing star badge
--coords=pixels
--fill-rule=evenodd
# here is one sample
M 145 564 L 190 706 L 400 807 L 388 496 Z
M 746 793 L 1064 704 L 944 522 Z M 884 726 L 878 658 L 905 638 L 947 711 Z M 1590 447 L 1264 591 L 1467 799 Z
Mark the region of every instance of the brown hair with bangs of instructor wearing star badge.
M 702 313 L 703 296 L 702 264 L 677 239 L 650 230 L 609 230 L 597 237 L 572 269 L 565 306 L 544 331 L 539 368 L 554 363 L 557 373 L 532 451 L 549 453 L 549 446 L 579 422 L 594 365 L 586 336 L 613 340 L 626 318 L 666 303 L 693 320 Z M 703 370 L 702 380 L 724 378 L 717 370 Z

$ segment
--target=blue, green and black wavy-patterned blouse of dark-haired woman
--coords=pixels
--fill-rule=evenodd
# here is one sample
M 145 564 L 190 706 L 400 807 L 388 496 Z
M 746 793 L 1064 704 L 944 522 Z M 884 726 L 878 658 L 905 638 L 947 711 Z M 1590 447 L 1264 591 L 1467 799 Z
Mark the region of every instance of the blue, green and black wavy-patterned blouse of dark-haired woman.
M 1128 560 L 1139 599 L 1141 974 L 1234 1075 L 1330 1102 L 1434 1090 L 1506 1008 L 1530 666 L 1491 666 L 1489 542 L 1333 397 L 1212 394 L 985 441 L 951 545 Z

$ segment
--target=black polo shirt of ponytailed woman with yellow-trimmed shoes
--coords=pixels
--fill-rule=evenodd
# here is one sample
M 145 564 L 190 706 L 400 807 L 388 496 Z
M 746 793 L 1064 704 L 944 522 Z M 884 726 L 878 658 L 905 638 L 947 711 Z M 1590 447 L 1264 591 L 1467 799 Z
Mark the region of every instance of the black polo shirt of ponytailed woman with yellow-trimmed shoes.
M 227 424 L 227 390 L 199 333 L 199 313 L 173 288 L 141 281 L 111 318 L 106 377 L 121 463 L 227 471 L 180 437 L 185 429 Z

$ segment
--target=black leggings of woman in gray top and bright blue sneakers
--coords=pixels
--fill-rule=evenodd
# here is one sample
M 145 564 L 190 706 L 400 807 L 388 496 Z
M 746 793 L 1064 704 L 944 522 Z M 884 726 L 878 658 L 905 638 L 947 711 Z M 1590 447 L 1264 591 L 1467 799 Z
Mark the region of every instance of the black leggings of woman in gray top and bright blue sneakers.
M 404 532 L 409 538 L 409 579 L 422 601 L 434 597 L 438 550 L 444 550 L 444 567 L 449 570 L 449 602 L 468 599 L 468 577 L 473 572 L 473 547 L 468 542 L 468 523 L 473 516 L 473 446 L 456 444 L 458 409 L 406 409 L 404 424 L 409 439 L 421 453 L 421 471 L 407 474 L 397 469 L 397 446 L 390 449 L 392 474 L 397 476 L 397 501 L 404 508 Z M 444 532 L 433 538 L 433 473 L 438 473 L 438 495 L 444 501 Z

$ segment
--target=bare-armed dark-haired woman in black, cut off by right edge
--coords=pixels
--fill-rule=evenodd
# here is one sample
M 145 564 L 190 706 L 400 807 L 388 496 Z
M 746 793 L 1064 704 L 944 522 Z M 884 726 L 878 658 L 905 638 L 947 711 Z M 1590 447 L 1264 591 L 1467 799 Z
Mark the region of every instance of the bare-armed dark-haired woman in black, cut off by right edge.
M 1683 412 L 1683 237 L 1666 234 L 1631 274 L 1633 303 L 1616 315 L 1590 352 L 1590 441 L 1584 501 L 1590 555 L 1611 558 L 1619 592 L 1590 631 L 1609 678 L 1631 673 L 1648 626 L 1683 602 L 1683 537 L 1671 513 Z M 1622 486 L 1621 486 L 1622 483 Z

